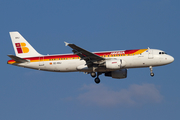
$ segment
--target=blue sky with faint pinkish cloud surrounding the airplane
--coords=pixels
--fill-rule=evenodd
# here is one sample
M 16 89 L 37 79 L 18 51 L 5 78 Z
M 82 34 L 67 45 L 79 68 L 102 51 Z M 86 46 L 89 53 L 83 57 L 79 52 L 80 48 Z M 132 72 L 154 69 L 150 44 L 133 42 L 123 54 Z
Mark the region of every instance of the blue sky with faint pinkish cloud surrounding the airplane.
M 1 0 L 1 120 L 179 120 L 179 0 Z M 53 73 L 6 64 L 19 31 L 41 54 L 155 48 L 175 58 L 126 79 Z

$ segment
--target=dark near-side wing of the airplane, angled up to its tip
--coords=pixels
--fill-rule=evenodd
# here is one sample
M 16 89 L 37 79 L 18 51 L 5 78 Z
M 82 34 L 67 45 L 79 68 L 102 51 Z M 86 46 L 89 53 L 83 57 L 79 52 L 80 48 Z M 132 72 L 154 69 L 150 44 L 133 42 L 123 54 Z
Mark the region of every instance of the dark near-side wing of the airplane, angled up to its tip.
M 72 52 L 76 55 L 78 55 L 79 57 L 81 57 L 82 60 L 85 60 L 87 65 L 89 64 L 96 64 L 100 61 L 103 61 L 105 60 L 104 58 L 92 53 L 92 52 L 89 52 L 83 48 L 80 48 L 79 46 L 75 45 L 75 44 L 70 44 L 70 43 L 67 43 L 67 42 L 64 42 L 66 46 L 69 46 L 71 47 L 73 50 Z

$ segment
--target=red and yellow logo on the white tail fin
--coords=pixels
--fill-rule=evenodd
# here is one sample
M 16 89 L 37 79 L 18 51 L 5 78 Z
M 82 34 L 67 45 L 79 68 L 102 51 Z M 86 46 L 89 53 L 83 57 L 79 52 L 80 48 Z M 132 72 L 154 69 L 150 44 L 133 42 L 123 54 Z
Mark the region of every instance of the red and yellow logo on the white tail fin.
M 17 52 L 20 53 L 28 53 L 29 48 L 26 47 L 26 43 L 15 43 Z

